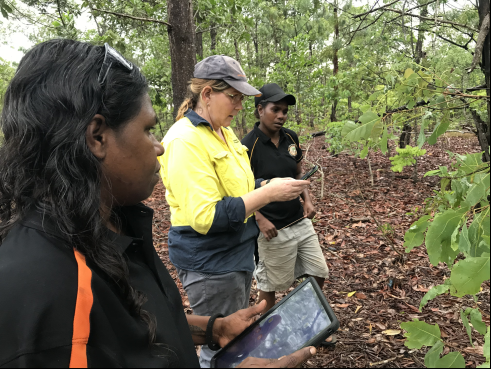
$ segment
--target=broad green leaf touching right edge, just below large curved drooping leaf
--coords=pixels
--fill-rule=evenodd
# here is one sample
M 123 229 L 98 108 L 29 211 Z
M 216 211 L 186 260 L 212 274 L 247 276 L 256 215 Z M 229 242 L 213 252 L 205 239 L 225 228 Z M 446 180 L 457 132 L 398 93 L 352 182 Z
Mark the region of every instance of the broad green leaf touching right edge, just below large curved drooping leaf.
M 474 295 L 480 291 L 483 281 L 490 279 L 490 255 L 467 257 L 460 260 L 451 270 L 451 294 L 462 297 Z

